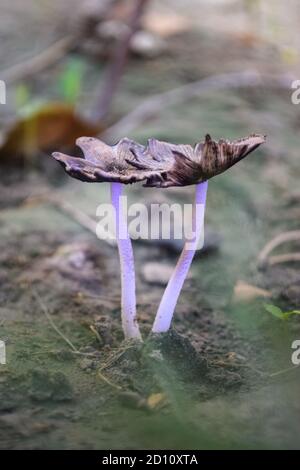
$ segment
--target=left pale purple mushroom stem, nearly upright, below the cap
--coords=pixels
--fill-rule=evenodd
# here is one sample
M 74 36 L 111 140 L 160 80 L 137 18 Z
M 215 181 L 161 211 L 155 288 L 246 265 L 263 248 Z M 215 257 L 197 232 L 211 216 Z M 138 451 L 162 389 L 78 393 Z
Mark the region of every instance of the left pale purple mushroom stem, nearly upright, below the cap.
M 125 338 L 141 339 L 136 320 L 135 272 L 131 240 L 128 235 L 126 219 L 122 213 L 121 200 L 123 185 L 111 183 L 111 202 L 116 215 L 116 239 L 119 249 L 122 287 L 122 327 Z

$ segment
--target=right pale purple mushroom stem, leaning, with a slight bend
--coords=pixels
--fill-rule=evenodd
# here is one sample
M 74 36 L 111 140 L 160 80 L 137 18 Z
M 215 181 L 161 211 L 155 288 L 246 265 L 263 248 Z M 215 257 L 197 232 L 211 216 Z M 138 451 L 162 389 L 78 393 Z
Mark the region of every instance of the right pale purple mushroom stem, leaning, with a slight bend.
M 195 242 L 186 241 L 184 244 L 182 253 L 177 261 L 175 270 L 168 282 L 164 295 L 161 299 L 152 328 L 153 333 L 163 333 L 168 331 L 170 328 L 178 297 L 180 295 L 183 283 L 190 269 L 195 251 L 198 248 L 197 240 L 203 228 L 203 217 L 200 218 L 201 220 L 197 220 L 197 214 L 199 213 L 197 211 L 197 206 L 204 206 L 203 209 L 205 210 L 207 187 L 207 181 L 196 185 L 192 220 L 192 227 L 196 235 Z M 202 211 L 203 216 L 204 210 Z

